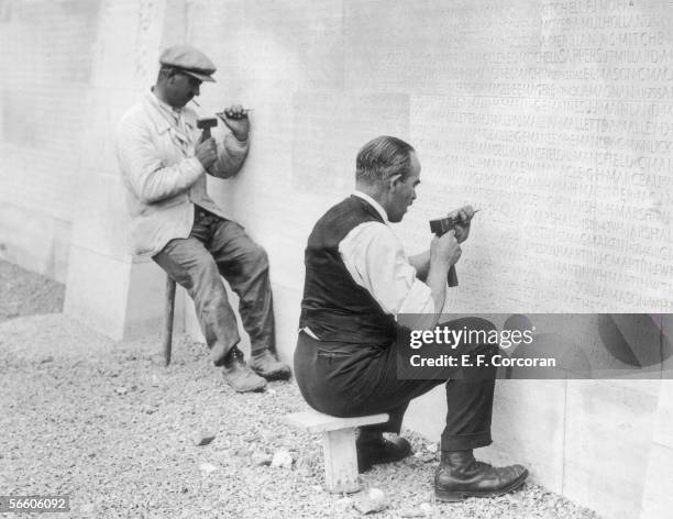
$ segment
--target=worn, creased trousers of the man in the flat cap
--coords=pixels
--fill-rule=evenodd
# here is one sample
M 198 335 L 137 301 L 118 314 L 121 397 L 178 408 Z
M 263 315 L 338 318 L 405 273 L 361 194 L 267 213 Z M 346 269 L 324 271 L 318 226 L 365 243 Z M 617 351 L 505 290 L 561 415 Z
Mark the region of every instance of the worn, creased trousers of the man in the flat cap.
M 216 365 L 241 340 L 220 275 L 240 298 L 243 328 L 255 354 L 274 350 L 274 314 L 266 252 L 241 225 L 198 206 L 191 233 L 172 240 L 153 260 L 185 287 Z

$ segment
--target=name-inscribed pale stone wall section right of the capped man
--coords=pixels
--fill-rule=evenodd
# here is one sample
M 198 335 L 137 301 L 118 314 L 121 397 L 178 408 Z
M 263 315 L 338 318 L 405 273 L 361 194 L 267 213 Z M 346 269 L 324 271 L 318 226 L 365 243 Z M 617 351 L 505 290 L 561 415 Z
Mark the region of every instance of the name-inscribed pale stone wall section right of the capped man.
M 449 311 L 673 310 L 670 3 L 203 0 L 189 13 L 191 42 L 221 66 L 205 108 L 255 109 L 245 170 L 213 188 L 269 252 L 287 357 L 306 236 L 382 133 L 422 164 L 397 225 L 410 252 L 428 246 L 428 219 L 482 209 Z M 500 382 L 486 455 L 606 517 L 664 517 L 672 390 Z M 420 399 L 407 424 L 438 438 L 442 400 Z

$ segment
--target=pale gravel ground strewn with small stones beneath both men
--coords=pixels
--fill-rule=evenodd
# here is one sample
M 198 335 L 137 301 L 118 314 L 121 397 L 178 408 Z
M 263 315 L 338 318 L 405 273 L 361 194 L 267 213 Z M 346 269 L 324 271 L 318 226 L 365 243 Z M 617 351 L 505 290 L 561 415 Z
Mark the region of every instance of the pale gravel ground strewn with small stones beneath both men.
M 16 308 L 27 313 L 30 303 Z M 158 350 L 158 338 L 114 343 L 63 314 L 0 323 L 0 495 L 70 495 L 73 511 L 54 517 L 361 516 L 354 504 L 364 493 L 322 489 L 319 438 L 282 423 L 304 408 L 294 384 L 236 395 L 203 345 L 177 338 L 168 368 Z M 197 446 L 202 432 L 216 439 Z M 532 484 L 496 499 L 435 503 L 437 454 L 407 435 L 417 456 L 362 475 L 365 489 L 386 495 L 374 517 L 598 517 Z M 290 468 L 255 464 L 279 450 Z M 22 516 L 32 517 L 11 517 Z

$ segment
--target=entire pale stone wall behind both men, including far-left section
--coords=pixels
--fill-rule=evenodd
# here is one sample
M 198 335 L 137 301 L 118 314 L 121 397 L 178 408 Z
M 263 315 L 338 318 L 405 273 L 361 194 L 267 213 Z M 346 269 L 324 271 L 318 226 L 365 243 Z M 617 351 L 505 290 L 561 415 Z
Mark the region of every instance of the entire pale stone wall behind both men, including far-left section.
M 671 313 L 672 25 L 654 0 L 0 1 L 1 253 L 67 279 L 66 311 L 97 330 L 158 331 L 163 275 L 125 252 L 112 129 L 188 41 L 219 67 L 201 113 L 254 109 L 244 169 L 210 191 L 269 253 L 286 360 L 306 238 L 384 133 L 422 164 L 396 227 L 410 253 L 428 219 L 482 209 L 450 311 Z M 198 335 L 184 294 L 177 320 Z M 486 455 L 608 518 L 668 517 L 672 394 L 501 382 Z M 443 406 L 438 389 L 407 426 L 438 438 Z

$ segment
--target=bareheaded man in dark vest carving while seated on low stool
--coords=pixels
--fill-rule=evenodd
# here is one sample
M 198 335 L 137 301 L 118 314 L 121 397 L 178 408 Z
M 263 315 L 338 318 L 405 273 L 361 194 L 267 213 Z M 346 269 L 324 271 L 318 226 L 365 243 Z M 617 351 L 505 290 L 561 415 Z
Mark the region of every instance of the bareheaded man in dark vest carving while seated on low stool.
M 473 449 L 490 443 L 495 368 L 478 379 L 400 379 L 397 375 L 399 314 L 427 314 L 437 324 L 446 294 L 446 275 L 461 256 L 474 210 L 456 211 L 454 230 L 433 238 L 430 250 L 408 257 L 389 223 L 399 222 L 416 199 L 420 163 L 404 141 L 379 136 L 356 159 L 356 190 L 316 224 L 306 249 L 306 283 L 295 374 L 308 404 L 319 411 L 354 417 L 387 412 L 384 424 L 361 428 L 361 472 L 410 454 L 398 434 L 412 398 L 446 386 L 446 426 L 435 472 L 438 499 L 501 495 L 528 475 L 521 465 L 494 467 L 478 462 Z M 446 324 L 446 323 L 445 323 Z M 445 325 L 443 324 L 443 325 Z M 476 318 L 450 327 L 493 330 Z M 494 353 L 474 345 L 463 353 Z

